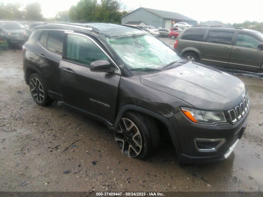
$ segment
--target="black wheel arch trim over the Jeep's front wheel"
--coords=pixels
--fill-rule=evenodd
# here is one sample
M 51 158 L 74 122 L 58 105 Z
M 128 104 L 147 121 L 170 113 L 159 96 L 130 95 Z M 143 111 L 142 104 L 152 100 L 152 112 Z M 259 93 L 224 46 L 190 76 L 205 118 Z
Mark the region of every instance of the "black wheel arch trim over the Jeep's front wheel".
M 162 124 L 164 124 L 164 126 L 166 127 L 166 129 L 168 130 L 168 133 L 170 134 L 171 140 L 173 142 L 174 147 L 176 148 L 176 153 L 179 159 L 179 156 L 181 154 L 181 146 L 176 134 L 176 131 L 174 129 L 174 126 L 171 124 L 171 122 L 164 116 L 157 114 L 151 110 L 147 110 L 143 107 L 139 107 L 139 106 L 135 106 L 135 105 L 124 105 L 120 110 L 119 113 L 115 119 L 114 125 L 111 128 L 113 131 L 117 131 L 118 127 L 119 127 L 119 123 L 121 118 L 124 116 L 124 114 L 127 111 L 135 111 L 135 112 L 140 112 L 142 114 L 148 115 L 152 118 L 154 118 L 157 121 L 160 121 Z

